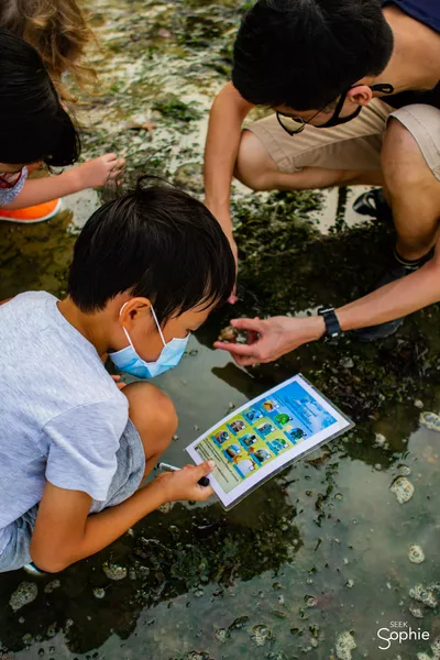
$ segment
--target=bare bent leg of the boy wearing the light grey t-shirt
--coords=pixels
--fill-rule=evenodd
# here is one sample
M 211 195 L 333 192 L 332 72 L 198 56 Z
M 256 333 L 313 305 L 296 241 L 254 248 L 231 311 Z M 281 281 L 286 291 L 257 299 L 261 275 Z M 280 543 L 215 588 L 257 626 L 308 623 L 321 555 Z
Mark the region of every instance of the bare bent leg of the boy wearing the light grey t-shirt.
M 176 410 L 166 394 L 151 383 L 132 383 L 122 393 L 129 399 L 130 419 L 141 436 L 146 476 L 176 432 Z

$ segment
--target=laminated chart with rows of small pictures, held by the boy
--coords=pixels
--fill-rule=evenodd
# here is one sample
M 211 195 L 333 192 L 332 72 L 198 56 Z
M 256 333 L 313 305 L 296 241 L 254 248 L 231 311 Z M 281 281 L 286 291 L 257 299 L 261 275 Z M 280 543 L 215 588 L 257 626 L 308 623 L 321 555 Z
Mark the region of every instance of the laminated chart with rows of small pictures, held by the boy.
M 216 461 L 209 481 L 231 508 L 293 461 L 353 427 L 300 374 L 224 417 L 186 448 L 191 459 Z

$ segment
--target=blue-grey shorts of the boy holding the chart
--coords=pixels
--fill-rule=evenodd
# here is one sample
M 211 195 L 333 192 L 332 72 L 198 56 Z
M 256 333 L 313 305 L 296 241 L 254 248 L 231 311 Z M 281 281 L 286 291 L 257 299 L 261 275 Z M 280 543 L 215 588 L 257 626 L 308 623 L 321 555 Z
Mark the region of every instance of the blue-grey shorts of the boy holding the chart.
M 129 419 L 117 452 L 118 468 L 110 484 L 106 502 L 92 501 L 90 514 L 97 514 L 109 506 L 128 499 L 142 483 L 145 472 L 145 454 L 141 437 Z M 0 554 L 0 573 L 21 569 L 32 561 L 29 553 L 38 505 L 12 522 L 12 537 Z

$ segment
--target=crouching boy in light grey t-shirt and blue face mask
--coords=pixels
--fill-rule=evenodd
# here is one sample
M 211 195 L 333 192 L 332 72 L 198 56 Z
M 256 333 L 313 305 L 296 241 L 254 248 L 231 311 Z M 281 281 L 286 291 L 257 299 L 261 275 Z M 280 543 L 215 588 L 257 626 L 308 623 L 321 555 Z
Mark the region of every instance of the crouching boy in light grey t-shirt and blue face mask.
M 211 462 L 139 490 L 176 414 L 150 383 L 122 389 L 101 356 L 141 380 L 175 366 L 234 277 L 208 209 L 141 183 L 87 222 L 64 300 L 32 292 L 0 306 L 0 572 L 59 571 L 161 504 L 211 495 L 197 483 Z

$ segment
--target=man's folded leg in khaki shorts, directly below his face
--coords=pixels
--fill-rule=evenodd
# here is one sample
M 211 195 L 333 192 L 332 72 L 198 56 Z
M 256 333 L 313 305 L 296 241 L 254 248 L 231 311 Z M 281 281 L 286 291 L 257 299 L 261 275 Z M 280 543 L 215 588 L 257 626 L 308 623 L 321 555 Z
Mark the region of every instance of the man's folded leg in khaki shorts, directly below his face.
M 346 124 L 330 129 L 309 125 L 294 136 L 272 114 L 243 132 L 235 176 L 254 190 L 381 186 L 382 141 L 391 111 L 374 99 Z

